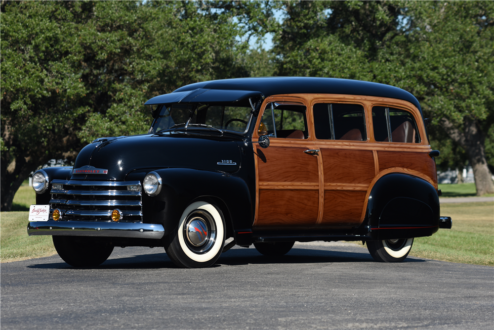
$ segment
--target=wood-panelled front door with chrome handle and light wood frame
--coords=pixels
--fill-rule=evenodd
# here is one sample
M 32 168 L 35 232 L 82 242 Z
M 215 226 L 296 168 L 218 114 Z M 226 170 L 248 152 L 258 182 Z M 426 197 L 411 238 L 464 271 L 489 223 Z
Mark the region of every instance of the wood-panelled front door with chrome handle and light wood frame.
M 299 103 L 305 111 L 304 138 L 270 136 L 267 148 L 254 144 L 256 166 L 256 214 L 253 230 L 290 230 L 314 227 L 321 216 L 322 169 L 314 150 L 312 121 L 306 101 L 301 98 L 269 97 L 261 111 L 270 111 L 271 102 Z M 257 125 L 261 123 L 259 115 Z M 273 135 L 273 134 L 272 134 Z M 253 140 L 258 138 L 254 133 Z

